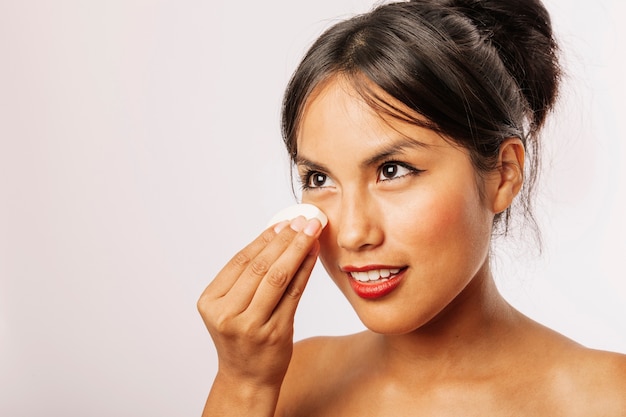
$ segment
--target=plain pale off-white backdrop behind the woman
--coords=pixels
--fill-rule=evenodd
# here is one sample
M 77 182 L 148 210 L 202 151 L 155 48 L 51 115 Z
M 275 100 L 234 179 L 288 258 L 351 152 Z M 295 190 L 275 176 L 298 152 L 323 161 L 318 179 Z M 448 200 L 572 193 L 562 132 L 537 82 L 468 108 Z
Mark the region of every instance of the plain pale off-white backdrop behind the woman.
M 196 300 L 293 201 L 279 135 L 305 48 L 365 0 L 0 0 L 0 415 L 199 415 Z M 497 241 L 529 316 L 626 352 L 625 3 L 547 3 L 568 72 L 531 237 Z M 321 268 L 298 339 L 362 325 Z

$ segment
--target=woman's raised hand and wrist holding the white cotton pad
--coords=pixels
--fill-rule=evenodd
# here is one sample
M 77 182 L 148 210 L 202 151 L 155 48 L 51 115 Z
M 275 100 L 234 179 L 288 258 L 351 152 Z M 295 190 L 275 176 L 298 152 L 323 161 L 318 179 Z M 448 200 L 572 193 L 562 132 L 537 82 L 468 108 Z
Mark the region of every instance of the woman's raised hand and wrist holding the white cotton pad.
M 252 415 L 250 407 L 255 415 L 273 415 L 291 360 L 296 307 L 319 253 L 321 231 L 319 220 L 304 217 L 266 230 L 200 297 L 198 310 L 219 363 L 205 415 Z

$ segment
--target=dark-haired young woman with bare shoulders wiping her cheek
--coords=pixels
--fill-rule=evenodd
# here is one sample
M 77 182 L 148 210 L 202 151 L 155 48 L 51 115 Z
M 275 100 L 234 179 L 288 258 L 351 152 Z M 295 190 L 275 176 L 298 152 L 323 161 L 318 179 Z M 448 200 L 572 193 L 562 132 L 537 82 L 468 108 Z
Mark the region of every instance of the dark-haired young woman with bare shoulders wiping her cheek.
M 219 369 L 205 416 L 626 416 L 626 356 L 498 293 L 494 233 L 532 219 L 558 90 L 539 0 L 419 0 L 336 24 L 285 94 L 303 217 L 266 230 L 198 307 Z M 319 255 L 367 331 L 293 344 Z

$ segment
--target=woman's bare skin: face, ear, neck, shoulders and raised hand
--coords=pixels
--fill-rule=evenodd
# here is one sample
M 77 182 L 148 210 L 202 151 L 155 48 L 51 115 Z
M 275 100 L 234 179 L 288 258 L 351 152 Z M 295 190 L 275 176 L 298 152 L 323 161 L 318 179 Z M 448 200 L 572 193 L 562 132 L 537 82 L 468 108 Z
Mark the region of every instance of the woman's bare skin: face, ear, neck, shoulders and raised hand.
M 219 359 L 204 415 L 626 416 L 625 356 L 533 322 L 496 289 L 493 218 L 523 164 L 511 138 L 478 175 L 467 150 L 375 113 L 347 80 L 318 87 L 297 165 L 303 201 L 328 226 L 299 218 L 267 230 L 200 298 Z M 292 345 L 318 254 L 368 330 Z M 400 269 L 399 285 L 359 296 L 346 268 L 368 265 Z

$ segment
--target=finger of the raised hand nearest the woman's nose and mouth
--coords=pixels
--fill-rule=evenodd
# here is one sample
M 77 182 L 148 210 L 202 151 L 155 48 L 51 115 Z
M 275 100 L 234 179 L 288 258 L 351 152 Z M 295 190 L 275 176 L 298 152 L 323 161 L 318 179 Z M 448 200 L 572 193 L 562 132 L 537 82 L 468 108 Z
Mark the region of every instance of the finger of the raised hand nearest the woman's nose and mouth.
M 268 273 L 261 280 L 254 298 L 250 303 L 249 310 L 255 314 L 269 318 L 280 300 L 285 295 L 285 290 L 301 270 L 303 262 L 309 260 L 307 267 L 312 268 L 316 257 L 318 242 L 322 225 L 317 219 L 309 220 L 305 228 L 300 231 L 283 254 L 274 262 Z M 311 261 L 309 254 L 313 256 Z M 305 270 L 307 271 L 307 270 Z M 307 271 L 310 273 L 310 270 Z M 299 276 L 299 282 L 302 277 Z M 305 280 L 308 277 L 304 278 Z M 299 287 L 292 287 L 293 290 Z

